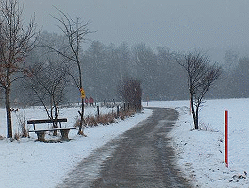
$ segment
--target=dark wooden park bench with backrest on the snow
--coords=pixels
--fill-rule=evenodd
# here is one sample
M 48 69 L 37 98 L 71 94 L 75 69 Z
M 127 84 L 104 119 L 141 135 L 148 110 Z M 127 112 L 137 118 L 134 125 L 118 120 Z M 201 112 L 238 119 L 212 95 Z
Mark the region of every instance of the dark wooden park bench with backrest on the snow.
M 46 131 L 60 131 L 61 133 L 61 140 L 69 140 L 68 134 L 70 129 L 76 129 L 75 127 L 71 128 L 62 128 L 61 123 L 67 122 L 66 118 L 63 119 L 40 119 L 40 120 L 29 120 L 27 124 L 33 124 L 33 130 L 29 130 L 29 132 L 35 132 L 38 137 L 38 141 L 44 142 L 45 141 L 45 133 Z M 36 129 L 36 124 L 44 124 L 44 123 L 59 123 L 59 128 L 51 128 L 51 129 Z

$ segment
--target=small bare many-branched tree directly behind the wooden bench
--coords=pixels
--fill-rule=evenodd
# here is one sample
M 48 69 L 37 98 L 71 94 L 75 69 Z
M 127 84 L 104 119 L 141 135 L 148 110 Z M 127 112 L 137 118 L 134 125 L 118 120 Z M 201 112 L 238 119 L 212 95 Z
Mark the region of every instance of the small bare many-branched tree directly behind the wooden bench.
M 38 101 L 34 102 L 43 105 L 49 119 L 57 119 L 68 81 L 67 68 L 61 62 L 46 61 L 30 67 L 26 75 L 26 88 L 38 98 Z M 54 123 L 53 127 L 57 128 L 57 123 Z M 55 135 L 57 131 L 54 131 Z

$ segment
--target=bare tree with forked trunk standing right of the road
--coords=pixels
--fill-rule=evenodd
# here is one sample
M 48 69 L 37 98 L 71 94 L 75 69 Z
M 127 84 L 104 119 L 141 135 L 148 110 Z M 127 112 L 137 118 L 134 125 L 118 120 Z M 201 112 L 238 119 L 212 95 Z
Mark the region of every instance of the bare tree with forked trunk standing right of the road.
M 221 75 L 221 67 L 211 65 L 209 58 L 201 53 L 189 53 L 177 61 L 187 72 L 191 112 L 195 129 L 198 129 L 200 105 L 212 83 Z

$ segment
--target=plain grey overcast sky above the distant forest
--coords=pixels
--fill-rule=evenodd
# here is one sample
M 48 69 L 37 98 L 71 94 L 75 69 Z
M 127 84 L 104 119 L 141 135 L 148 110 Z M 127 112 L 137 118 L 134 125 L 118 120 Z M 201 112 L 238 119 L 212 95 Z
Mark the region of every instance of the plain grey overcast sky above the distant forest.
M 91 40 L 104 44 L 167 46 L 173 50 L 249 44 L 248 0 L 21 0 L 25 17 L 35 12 L 39 27 L 59 32 L 53 5 L 91 21 Z

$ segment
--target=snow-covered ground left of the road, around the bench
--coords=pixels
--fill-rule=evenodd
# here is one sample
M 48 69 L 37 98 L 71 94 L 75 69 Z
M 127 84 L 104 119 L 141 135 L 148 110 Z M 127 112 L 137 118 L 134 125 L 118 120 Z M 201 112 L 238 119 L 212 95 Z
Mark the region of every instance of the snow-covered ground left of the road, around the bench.
M 64 108 L 60 111 L 61 118 L 68 118 L 67 126 L 74 125 L 78 108 Z M 100 108 L 100 113 L 105 114 L 112 109 Z M 0 109 L 1 124 L 0 135 L 6 136 L 5 110 Z M 95 115 L 96 108 L 86 108 L 86 115 Z M 49 188 L 55 187 L 72 170 L 77 163 L 86 158 L 90 153 L 114 139 L 124 131 L 132 128 L 152 114 L 151 110 L 144 110 L 135 117 L 130 117 L 117 123 L 86 128 L 87 137 L 77 135 L 77 130 L 71 130 L 70 142 L 42 143 L 35 142 L 37 136 L 30 133 L 31 138 L 10 142 L 0 140 L 0 187 L 8 188 Z M 19 109 L 12 112 L 13 133 L 18 131 L 18 119 L 47 118 L 42 108 Z M 20 118 L 21 117 L 21 118 Z M 62 124 L 63 126 L 63 124 Z

